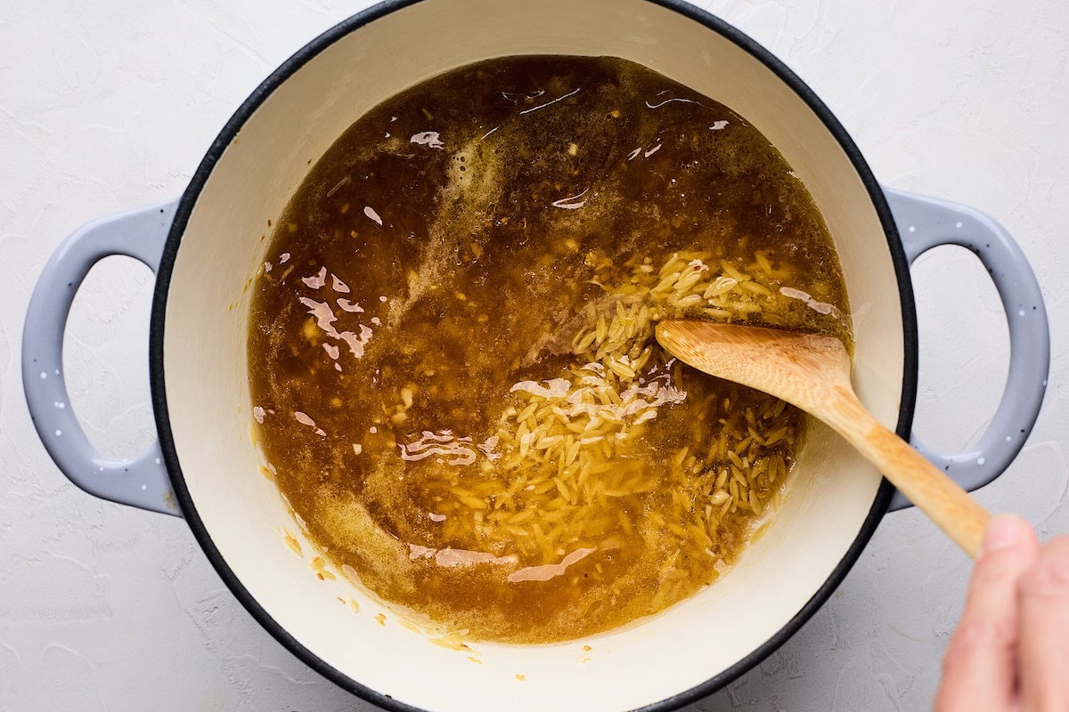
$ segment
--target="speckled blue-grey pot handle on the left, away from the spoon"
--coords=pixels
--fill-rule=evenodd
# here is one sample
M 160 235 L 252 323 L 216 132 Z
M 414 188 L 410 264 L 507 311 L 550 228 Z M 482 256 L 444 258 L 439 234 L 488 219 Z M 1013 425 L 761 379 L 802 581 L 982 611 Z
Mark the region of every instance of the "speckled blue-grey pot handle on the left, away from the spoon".
M 27 310 L 22 389 L 37 436 L 67 479 L 104 500 L 181 517 L 159 441 L 130 460 L 97 453 L 71 408 L 62 363 L 63 331 L 86 274 L 110 255 L 134 257 L 155 273 L 176 205 L 153 205 L 90 223 L 60 244 Z

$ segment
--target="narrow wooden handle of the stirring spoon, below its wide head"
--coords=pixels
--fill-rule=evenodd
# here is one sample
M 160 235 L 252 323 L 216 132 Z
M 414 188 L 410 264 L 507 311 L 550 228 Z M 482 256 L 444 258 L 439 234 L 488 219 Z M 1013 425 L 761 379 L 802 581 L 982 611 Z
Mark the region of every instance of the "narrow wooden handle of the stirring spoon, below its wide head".
M 838 402 L 824 420 L 874 464 L 966 554 L 980 553 L 983 529 L 991 513 L 969 496 L 961 486 L 926 460 L 909 443 L 883 427 L 852 391 L 836 389 Z

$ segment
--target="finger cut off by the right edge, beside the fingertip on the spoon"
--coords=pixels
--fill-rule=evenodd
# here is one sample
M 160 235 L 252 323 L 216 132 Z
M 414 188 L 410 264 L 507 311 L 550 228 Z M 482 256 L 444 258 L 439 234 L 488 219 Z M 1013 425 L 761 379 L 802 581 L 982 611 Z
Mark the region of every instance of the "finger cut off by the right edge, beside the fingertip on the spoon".
M 1069 538 L 1043 547 L 1019 589 L 1022 709 L 1069 710 Z

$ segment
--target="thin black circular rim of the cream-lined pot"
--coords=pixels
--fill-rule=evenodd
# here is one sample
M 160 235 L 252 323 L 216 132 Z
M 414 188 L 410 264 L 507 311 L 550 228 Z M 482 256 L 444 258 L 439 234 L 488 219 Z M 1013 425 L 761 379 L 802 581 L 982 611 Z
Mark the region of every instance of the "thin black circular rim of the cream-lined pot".
M 727 21 L 691 4 L 686 0 L 645 0 L 654 5 L 660 5 L 667 10 L 683 15 L 687 19 L 700 23 L 704 28 L 716 32 L 726 39 L 739 46 L 753 58 L 760 61 L 773 72 L 784 83 L 786 83 L 795 94 L 797 94 L 806 105 L 814 111 L 818 118 L 832 133 L 839 146 L 847 154 L 851 164 L 857 172 L 858 177 L 865 186 L 876 208 L 877 216 L 883 226 L 887 238 L 887 247 L 890 251 L 892 263 L 895 268 L 895 275 L 898 282 L 899 301 L 902 312 L 902 331 L 905 352 L 903 354 L 902 391 L 899 405 L 897 433 L 903 439 L 910 436 L 913 422 L 913 412 L 916 406 L 917 395 L 917 323 L 916 310 L 913 300 L 913 286 L 910 279 L 910 265 L 905 257 L 898 230 L 892 217 L 890 209 L 884 199 L 883 190 L 872 175 L 871 170 L 862 157 L 861 152 L 846 129 L 834 116 L 832 111 L 821 101 L 814 91 L 801 78 L 781 61 L 772 54 L 768 49 L 759 45 L 756 41 L 735 29 Z M 422 0 L 384 0 L 367 10 L 357 13 L 341 22 L 326 30 L 299 50 L 286 59 L 278 66 L 259 86 L 242 102 L 226 123 L 219 135 L 213 141 L 204 158 L 201 160 L 193 173 L 188 187 L 183 192 L 179 202 L 174 220 L 167 236 L 164 247 L 162 257 L 156 275 L 156 286 L 153 294 L 152 314 L 149 333 L 149 369 L 152 392 L 152 405 L 156 420 L 156 428 L 159 433 L 159 444 L 162 450 L 164 462 L 174 488 L 174 495 L 193 537 L 207 556 L 216 572 L 226 583 L 227 587 L 237 598 L 243 606 L 252 615 L 276 640 L 294 653 L 303 663 L 330 680 L 343 690 L 381 708 L 394 712 L 423 712 L 420 708 L 413 707 L 405 702 L 393 699 L 372 690 L 344 673 L 335 668 L 326 661 L 319 658 L 314 652 L 301 645 L 281 624 L 279 624 L 255 600 L 238 577 L 231 570 L 227 560 L 216 548 L 211 535 L 204 526 L 203 521 L 197 512 L 197 506 L 186 487 L 185 477 L 174 447 L 174 440 L 171 434 L 170 415 L 167 408 L 166 378 L 164 374 L 164 334 L 165 318 L 167 315 L 167 294 L 170 286 L 171 273 L 174 268 L 174 260 L 177 256 L 179 247 L 182 242 L 182 235 L 185 232 L 192 212 L 193 206 L 200 196 L 204 185 L 207 183 L 215 164 L 219 161 L 223 152 L 237 136 L 245 123 L 252 116 L 255 110 L 266 98 L 279 86 L 281 86 L 291 76 L 300 69 L 306 63 L 319 56 L 325 49 L 334 45 L 342 37 L 359 30 L 382 17 L 422 2 Z M 775 634 L 761 644 L 757 649 L 739 660 L 737 663 L 722 670 L 719 674 L 682 691 L 671 697 L 662 699 L 659 702 L 648 705 L 636 712 L 669 712 L 679 709 L 690 702 L 701 699 L 713 692 L 724 687 L 752 667 L 760 663 L 777 648 L 784 645 L 793 636 L 807 620 L 824 604 L 831 595 L 838 588 L 854 563 L 861 557 L 865 545 L 883 519 L 887 510 L 890 499 L 895 492 L 894 487 L 886 479 L 880 484 L 876 499 L 869 509 L 868 515 L 862 525 L 857 537 L 850 544 L 843 557 L 825 580 L 821 587 L 806 601 L 806 603 L 794 614 L 794 616 Z

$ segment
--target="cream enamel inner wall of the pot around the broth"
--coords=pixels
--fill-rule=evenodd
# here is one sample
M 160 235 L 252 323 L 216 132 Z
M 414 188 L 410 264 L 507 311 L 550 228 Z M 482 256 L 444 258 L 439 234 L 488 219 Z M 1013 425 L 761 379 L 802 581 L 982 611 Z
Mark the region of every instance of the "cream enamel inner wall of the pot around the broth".
M 478 28 L 478 29 L 477 29 Z M 367 109 L 462 64 L 521 53 L 626 58 L 745 116 L 812 193 L 853 308 L 855 383 L 888 426 L 898 412 L 903 337 L 898 288 L 872 205 L 808 107 L 730 41 L 642 0 L 424 0 L 351 33 L 288 79 L 223 154 L 182 239 L 168 297 L 165 373 L 174 444 L 198 513 L 261 606 L 320 659 L 394 699 L 431 710 L 623 710 L 730 667 L 783 628 L 839 564 L 869 511 L 878 475 L 823 428 L 801 454 L 768 534 L 721 583 L 620 632 L 542 647 L 448 650 L 398 624 L 341 577 L 319 581 L 277 528 L 297 527 L 250 443 L 247 280 L 309 169 Z M 229 308 L 236 301 L 236 306 Z M 337 597 L 360 602 L 354 614 Z M 385 612 L 386 624 L 375 620 Z M 582 648 L 591 650 L 580 662 Z M 517 680 L 516 676 L 524 676 Z M 506 702 L 506 700 L 508 700 Z

